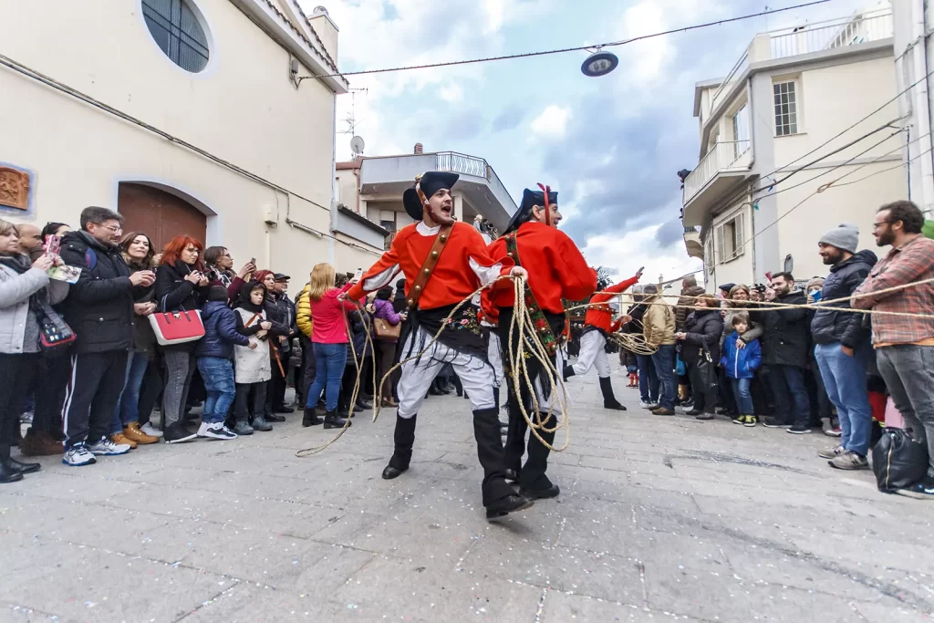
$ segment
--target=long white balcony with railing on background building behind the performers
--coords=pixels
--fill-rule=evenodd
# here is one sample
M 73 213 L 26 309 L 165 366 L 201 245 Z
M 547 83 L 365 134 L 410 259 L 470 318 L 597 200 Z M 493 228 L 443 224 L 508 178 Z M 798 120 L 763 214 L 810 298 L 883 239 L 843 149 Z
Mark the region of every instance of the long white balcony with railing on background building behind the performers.
M 460 175 L 454 187 L 455 215 L 473 222 L 476 215 L 488 219 L 501 232 L 517 210 L 509 192 L 486 160 L 454 151 L 364 158 L 360 195 L 367 205 L 401 211 L 405 189 L 426 171 L 450 171 Z

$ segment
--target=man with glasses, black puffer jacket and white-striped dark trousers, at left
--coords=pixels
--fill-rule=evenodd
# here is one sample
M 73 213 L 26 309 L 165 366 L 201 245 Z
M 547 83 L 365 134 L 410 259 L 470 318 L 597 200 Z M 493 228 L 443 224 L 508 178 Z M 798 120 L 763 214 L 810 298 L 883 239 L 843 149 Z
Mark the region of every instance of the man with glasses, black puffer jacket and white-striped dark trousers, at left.
M 62 238 L 62 260 L 81 269 L 64 301 L 65 320 L 77 336 L 62 409 L 66 465 L 130 451 L 107 439 L 108 425 L 134 346 L 134 289 L 149 288 L 156 277 L 152 271 L 130 274 L 117 247 L 122 222 L 116 212 L 86 207 L 81 229 Z

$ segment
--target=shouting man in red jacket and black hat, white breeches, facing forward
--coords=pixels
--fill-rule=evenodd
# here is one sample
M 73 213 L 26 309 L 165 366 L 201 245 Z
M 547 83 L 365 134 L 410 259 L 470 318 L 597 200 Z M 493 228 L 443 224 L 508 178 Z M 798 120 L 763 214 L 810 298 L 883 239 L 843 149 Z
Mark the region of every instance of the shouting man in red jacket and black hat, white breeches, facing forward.
M 474 407 L 474 437 L 484 469 L 483 505 L 487 517 L 495 518 L 528 508 L 532 502 L 517 495 L 505 480 L 499 409 L 493 399 L 494 373 L 488 362 L 488 341 L 477 321 L 477 307 L 461 305 L 438 340 L 431 342 L 451 311 L 481 285 L 500 276 L 527 273 L 505 253 L 490 256 L 483 236 L 472 226 L 454 220 L 451 189 L 457 180 L 457 174 L 431 171 L 404 192 L 405 211 L 418 222 L 396 234 L 389 250 L 347 292 L 347 298 L 360 300 L 366 292 L 391 283 L 400 270 L 405 275 L 408 334 L 400 336 L 400 359 L 421 355 L 402 366 L 395 450 L 383 477 L 396 478 L 408 469 L 418 408 L 434 377 L 450 363 Z M 502 287 L 509 289 L 511 283 L 503 280 Z

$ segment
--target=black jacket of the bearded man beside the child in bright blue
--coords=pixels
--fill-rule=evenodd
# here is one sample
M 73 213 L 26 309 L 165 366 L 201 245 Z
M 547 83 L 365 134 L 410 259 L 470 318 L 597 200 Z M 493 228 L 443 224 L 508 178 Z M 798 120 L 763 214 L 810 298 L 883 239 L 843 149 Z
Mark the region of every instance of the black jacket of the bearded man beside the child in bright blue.
M 807 304 L 802 292 L 794 291 L 775 299 L 775 303 Z M 762 337 L 762 363 L 766 365 L 796 365 L 803 368 L 808 361 L 808 312 L 806 309 L 772 309 L 756 312 L 765 335 Z

